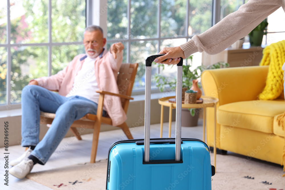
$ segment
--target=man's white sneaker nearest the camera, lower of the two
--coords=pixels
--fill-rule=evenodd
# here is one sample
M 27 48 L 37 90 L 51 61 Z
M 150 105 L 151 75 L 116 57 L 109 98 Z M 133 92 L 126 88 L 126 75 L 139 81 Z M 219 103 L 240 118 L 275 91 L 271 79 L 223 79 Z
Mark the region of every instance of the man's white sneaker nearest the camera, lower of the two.
M 22 160 L 16 166 L 9 169 L 9 173 L 14 175 L 15 177 L 18 177 L 19 179 L 23 179 L 24 177 L 26 177 L 26 175 L 30 173 L 33 166 L 34 166 L 33 161 L 27 158 L 25 160 Z

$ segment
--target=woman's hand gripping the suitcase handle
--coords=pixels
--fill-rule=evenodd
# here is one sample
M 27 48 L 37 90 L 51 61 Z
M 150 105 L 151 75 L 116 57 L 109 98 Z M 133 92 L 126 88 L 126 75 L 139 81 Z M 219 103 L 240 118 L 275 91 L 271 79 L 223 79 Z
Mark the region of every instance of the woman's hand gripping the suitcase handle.
M 163 48 L 159 54 L 165 54 L 154 60 L 156 63 L 162 63 L 167 65 L 176 65 L 180 61 L 180 57 L 185 59 L 184 51 L 178 47 Z

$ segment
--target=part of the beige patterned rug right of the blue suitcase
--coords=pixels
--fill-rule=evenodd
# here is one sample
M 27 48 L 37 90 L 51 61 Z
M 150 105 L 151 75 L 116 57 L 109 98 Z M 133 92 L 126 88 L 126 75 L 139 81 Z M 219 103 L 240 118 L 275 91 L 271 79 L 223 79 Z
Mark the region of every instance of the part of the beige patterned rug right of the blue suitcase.
M 212 189 L 285 190 L 283 174 L 283 167 L 278 164 L 234 153 L 218 154 L 216 174 L 212 177 Z

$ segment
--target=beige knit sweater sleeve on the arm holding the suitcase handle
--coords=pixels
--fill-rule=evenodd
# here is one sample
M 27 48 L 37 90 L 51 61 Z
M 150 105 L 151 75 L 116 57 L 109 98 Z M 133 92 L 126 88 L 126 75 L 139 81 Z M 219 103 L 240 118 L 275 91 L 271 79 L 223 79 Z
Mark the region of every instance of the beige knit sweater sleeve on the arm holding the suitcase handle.
M 218 54 L 248 35 L 278 8 L 284 9 L 284 4 L 284 0 L 249 0 L 239 10 L 227 15 L 202 34 L 193 36 L 180 47 L 186 58 L 193 53 L 203 51 L 210 55 Z

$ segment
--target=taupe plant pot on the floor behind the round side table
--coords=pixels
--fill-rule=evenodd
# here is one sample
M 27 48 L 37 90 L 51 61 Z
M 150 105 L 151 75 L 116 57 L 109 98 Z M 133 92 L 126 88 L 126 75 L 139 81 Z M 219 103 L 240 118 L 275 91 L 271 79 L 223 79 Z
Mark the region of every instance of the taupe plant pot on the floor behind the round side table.
M 198 124 L 199 109 L 195 109 L 195 115 L 192 116 L 190 111 L 186 108 L 182 108 L 181 111 L 181 126 L 184 127 L 195 127 Z

